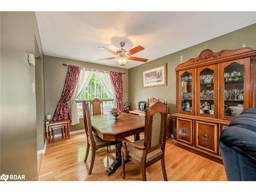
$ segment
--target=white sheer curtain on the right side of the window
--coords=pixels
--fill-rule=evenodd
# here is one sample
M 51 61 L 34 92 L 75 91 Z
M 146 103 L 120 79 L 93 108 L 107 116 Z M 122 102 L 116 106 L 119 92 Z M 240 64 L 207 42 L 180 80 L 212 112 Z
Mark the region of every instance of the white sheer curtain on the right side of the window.
M 98 77 L 99 77 L 99 81 L 101 82 L 102 86 L 105 88 L 106 92 L 109 93 L 111 98 L 114 98 L 113 101 L 113 105 L 117 106 L 116 104 L 116 93 L 115 90 L 113 88 L 111 79 L 110 79 L 110 74 L 109 73 L 102 73 L 102 72 L 98 72 L 96 71 Z

